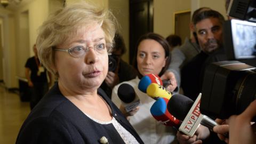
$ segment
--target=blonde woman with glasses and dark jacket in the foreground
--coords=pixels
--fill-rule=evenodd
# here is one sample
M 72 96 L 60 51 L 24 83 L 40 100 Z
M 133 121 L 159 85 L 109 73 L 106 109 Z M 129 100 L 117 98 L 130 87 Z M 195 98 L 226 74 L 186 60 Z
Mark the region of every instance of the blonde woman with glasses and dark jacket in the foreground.
M 115 34 L 110 12 L 78 3 L 39 29 L 43 65 L 58 77 L 23 123 L 16 143 L 143 143 L 99 86 Z

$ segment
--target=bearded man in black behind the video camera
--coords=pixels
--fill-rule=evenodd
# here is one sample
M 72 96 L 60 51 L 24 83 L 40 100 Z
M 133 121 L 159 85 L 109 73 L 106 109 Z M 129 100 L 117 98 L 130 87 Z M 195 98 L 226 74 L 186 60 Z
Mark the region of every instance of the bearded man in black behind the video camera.
M 211 62 L 226 60 L 222 47 L 223 16 L 214 10 L 195 15 L 193 22 L 201 52 L 181 69 L 181 87 L 190 99 L 201 92 L 205 66 Z

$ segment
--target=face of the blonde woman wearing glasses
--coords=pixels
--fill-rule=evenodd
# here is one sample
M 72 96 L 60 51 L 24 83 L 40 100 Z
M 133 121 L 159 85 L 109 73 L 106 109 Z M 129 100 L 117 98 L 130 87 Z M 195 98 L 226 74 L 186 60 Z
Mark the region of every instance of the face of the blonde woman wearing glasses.
M 55 51 L 55 69 L 59 73 L 59 83 L 70 90 L 97 90 L 108 72 L 108 53 L 105 34 L 101 27 L 82 27 L 70 41 L 57 45 L 58 49 L 84 46 L 90 47 L 81 57 L 73 57 L 68 52 Z M 105 47 L 97 52 L 95 47 Z

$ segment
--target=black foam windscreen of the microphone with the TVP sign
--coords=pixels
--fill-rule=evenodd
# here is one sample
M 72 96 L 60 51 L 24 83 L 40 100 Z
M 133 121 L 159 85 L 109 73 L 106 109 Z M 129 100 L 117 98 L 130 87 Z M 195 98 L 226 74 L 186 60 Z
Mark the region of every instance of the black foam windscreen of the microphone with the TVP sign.
M 174 117 L 183 121 L 187 116 L 194 101 L 182 94 L 175 94 L 167 103 L 167 110 Z

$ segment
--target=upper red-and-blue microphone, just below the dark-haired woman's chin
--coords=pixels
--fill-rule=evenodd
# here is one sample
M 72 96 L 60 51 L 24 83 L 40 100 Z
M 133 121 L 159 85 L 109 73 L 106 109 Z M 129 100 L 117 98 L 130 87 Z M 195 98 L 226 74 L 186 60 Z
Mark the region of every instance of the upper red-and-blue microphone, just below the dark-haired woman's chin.
M 140 79 L 138 88 L 140 91 L 146 93 L 147 88 L 151 83 L 157 83 L 159 85 L 163 85 L 163 82 L 159 76 L 154 75 L 154 74 L 148 74 L 146 76 L 143 76 Z

